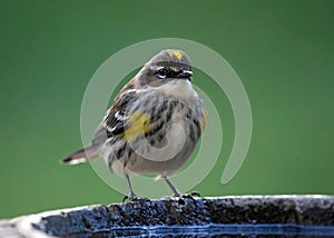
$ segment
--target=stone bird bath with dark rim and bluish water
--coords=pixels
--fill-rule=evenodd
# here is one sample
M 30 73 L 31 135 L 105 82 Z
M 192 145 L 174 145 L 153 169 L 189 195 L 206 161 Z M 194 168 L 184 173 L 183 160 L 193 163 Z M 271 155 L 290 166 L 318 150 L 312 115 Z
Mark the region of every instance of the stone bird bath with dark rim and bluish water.
M 0 224 L 0 236 L 6 227 L 17 237 L 41 238 L 334 236 L 334 197 L 188 197 L 96 205 L 16 218 Z

